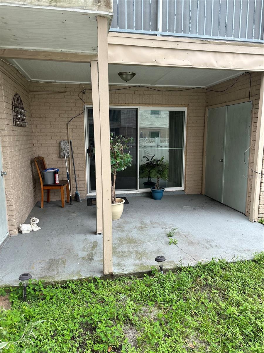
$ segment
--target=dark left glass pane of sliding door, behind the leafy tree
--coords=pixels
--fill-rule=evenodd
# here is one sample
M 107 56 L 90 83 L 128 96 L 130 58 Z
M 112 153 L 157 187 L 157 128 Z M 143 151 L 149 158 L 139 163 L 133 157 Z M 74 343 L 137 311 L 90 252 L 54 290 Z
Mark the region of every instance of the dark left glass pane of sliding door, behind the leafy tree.
M 88 127 L 88 168 L 89 168 L 89 192 L 95 191 L 95 151 L 94 151 L 94 124 L 93 108 L 87 107 Z M 132 155 L 132 165 L 122 172 L 118 172 L 116 190 L 137 190 L 137 109 L 136 108 L 110 108 L 110 133 L 114 136 L 122 135 L 133 137 L 133 143 L 129 143 Z M 109 133 L 109 138 L 110 138 Z

